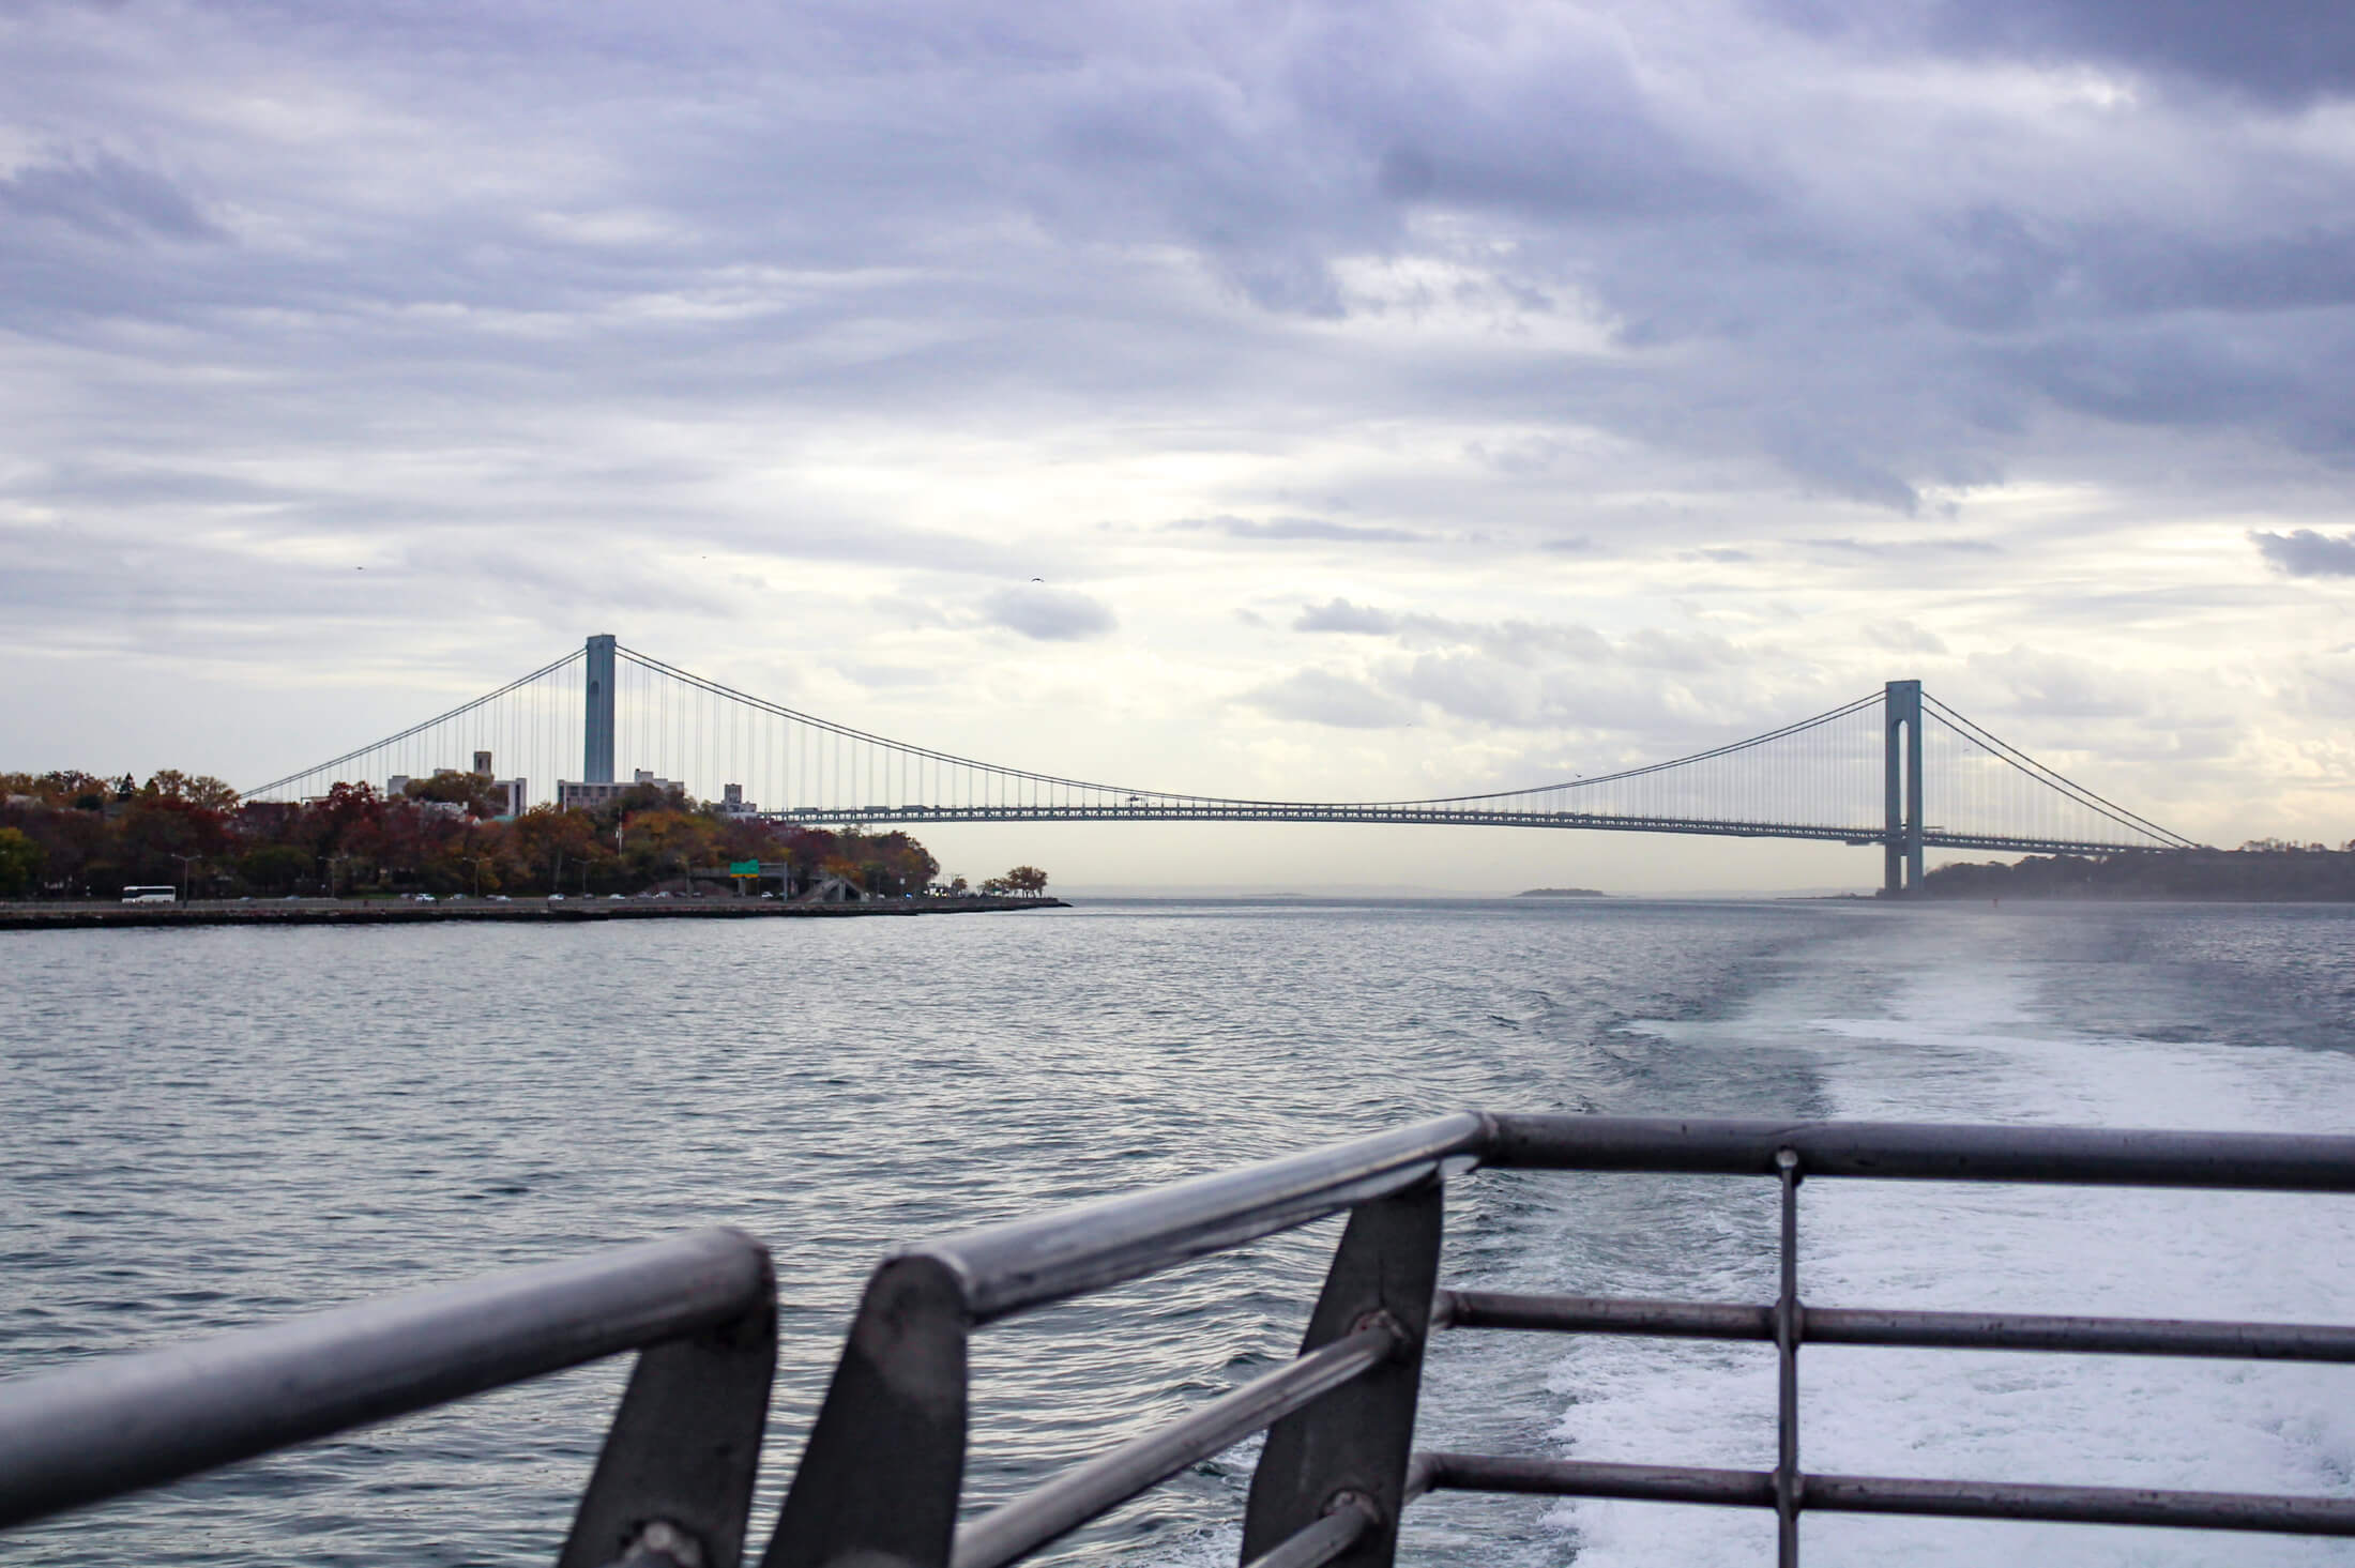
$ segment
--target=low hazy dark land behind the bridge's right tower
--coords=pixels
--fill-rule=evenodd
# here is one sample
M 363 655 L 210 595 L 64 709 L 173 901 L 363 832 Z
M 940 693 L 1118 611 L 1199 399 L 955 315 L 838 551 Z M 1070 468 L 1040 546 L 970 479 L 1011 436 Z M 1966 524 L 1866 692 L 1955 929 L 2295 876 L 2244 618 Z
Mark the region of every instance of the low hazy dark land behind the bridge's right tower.
M 2346 848 L 2258 838 L 2237 850 L 2150 855 L 2030 855 L 2002 864 L 1938 866 L 1922 878 L 1933 899 L 2237 899 L 2251 904 L 2355 902 L 2355 841 Z

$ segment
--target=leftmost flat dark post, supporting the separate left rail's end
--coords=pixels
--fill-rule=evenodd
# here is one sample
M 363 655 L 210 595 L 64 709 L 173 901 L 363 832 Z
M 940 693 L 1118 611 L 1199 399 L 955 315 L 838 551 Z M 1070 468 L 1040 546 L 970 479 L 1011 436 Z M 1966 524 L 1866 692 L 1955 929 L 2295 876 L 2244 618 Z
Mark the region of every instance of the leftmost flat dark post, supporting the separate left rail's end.
M 666 1552 L 671 1561 L 737 1568 L 777 1375 L 777 1278 L 765 1250 L 761 1281 L 758 1304 L 732 1323 L 638 1351 L 558 1568 L 603 1568 L 681 1533 L 688 1542 Z

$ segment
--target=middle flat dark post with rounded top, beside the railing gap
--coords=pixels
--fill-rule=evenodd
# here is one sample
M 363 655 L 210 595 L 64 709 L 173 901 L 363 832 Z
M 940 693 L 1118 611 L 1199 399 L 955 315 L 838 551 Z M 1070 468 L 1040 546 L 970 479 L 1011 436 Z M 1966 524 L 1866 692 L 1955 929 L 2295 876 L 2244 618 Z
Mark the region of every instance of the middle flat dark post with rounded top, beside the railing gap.
M 970 1328 L 963 1281 L 940 1260 L 876 1269 L 761 1568 L 949 1566 Z

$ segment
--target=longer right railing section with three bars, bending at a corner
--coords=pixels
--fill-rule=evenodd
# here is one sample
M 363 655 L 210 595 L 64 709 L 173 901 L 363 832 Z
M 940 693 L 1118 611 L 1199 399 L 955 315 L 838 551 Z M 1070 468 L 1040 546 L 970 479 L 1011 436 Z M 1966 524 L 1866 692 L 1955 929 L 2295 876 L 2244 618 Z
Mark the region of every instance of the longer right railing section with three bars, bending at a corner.
M 1441 1189 L 1472 1165 L 1776 1180 L 1778 1300 L 1439 1290 Z M 1003 1568 L 1262 1429 L 1248 1568 L 1387 1568 L 1401 1511 L 1437 1490 L 1773 1509 L 1785 1568 L 1806 1511 L 2355 1535 L 2355 1497 L 1802 1471 L 1802 1344 L 2355 1361 L 2355 1328 L 2341 1326 L 1809 1307 L 1799 1184 L 1827 1177 L 2355 1191 L 2355 1137 L 1462 1114 L 951 1236 L 876 1271 L 763 1568 Z M 1345 1210 L 1298 1361 L 958 1526 L 970 1330 Z M 1474 1328 L 1771 1342 L 1778 1462 L 1733 1471 L 1411 1453 L 1427 1335 Z

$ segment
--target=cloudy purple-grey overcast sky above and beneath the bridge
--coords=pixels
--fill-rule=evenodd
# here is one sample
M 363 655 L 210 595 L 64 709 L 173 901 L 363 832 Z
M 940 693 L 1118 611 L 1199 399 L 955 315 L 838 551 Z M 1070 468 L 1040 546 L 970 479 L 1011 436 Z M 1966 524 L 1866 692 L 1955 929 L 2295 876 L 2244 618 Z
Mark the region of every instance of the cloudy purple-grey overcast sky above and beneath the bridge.
M 2343 0 L 16 0 L 0 71 L 0 768 L 254 784 L 615 631 L 1293 798 L 1919 676 L 2197 838 L 2355 836 Z

